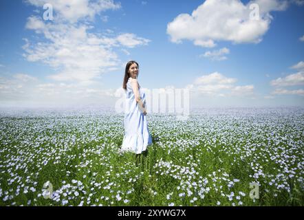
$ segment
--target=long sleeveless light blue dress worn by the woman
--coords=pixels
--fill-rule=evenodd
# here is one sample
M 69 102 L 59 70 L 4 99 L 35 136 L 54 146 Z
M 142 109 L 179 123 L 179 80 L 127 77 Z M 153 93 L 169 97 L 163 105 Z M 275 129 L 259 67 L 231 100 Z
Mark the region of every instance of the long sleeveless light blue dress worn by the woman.
M 138 108 L 135 95 L 131 86 L 131 78 L 127 82 L 126 102 L 124 111 L 124 138 L 120 151 L 142 153 L 146 147 L 152 144 L 151 134 L 148 129 L 146 115 Z M 146 103 L 146 94 L 138 88 L 142 102 Z

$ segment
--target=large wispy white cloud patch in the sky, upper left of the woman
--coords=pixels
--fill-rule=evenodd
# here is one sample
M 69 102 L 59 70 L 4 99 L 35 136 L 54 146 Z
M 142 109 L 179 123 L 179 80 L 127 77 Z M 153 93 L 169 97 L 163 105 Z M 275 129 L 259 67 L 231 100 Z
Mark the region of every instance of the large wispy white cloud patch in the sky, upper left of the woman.
M 36 23 L 39 18 L 32 17 L 26 26 L 42 32 L 49 41 L 31 44 L 25 40 L 23 56 L 59 69 L 58 74 L 50 76 L 54 80 L 91 80 L 119 62 L 118 56 L 108 49 L 115 41 L 88 34 L 87 25 Z

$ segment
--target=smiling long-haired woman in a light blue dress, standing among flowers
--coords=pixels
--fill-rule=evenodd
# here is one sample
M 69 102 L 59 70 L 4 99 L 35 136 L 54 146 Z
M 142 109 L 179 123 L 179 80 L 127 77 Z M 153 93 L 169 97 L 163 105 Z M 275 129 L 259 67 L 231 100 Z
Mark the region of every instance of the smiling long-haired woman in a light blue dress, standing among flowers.
M 138 72 L 138 63 L 129 61 L 124 71 L 122 85 L 126 92 L 126 108 L 121 148 L 121 151 L 131 151 L 137 155 L 146 151 L 146 147 L 152 144 L 148 122 L 146 122 L 146 95 L 138 84 Z

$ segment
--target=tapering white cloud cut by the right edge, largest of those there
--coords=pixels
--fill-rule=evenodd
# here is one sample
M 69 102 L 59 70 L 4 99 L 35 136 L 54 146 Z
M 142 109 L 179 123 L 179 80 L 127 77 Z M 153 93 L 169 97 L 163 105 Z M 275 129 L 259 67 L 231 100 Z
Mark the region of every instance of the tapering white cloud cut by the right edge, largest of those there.
M 290 87 L 294 85 L 304 85 L 304 72 L 290 74 L 284 78 L 277 78 L 270 82 L 274 87 Z

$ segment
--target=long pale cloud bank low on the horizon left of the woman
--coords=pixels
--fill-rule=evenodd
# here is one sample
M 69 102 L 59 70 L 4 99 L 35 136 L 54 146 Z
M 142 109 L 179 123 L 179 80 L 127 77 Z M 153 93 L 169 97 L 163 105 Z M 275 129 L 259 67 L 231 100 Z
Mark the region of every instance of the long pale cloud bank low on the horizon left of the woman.
M 43 83 L 27 74 L 12 78 L 0 77 L 1 106 L 19 107 L 78 107 L 79 104 L 113 106 L 115 89 L 100 89 L 101 83 L 90 87 L 82 83 Z

